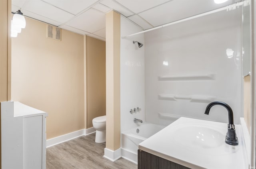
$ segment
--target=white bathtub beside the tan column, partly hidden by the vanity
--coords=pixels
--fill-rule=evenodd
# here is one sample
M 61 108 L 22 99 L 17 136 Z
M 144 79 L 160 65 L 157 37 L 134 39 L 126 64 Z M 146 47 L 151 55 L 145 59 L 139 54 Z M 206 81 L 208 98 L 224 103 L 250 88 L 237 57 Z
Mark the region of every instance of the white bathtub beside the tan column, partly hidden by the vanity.
M 128 159 L 134 163 L 137 163 L 137 155 L 138 155 L 138 145 L 142 141 L 146 140 L 150 136 L 153 136 L 160 130 L 165 128 L 165 126 L 151 124 L 151 123 L 143 123 L 136 128 L 132 128 L 121 134 L 121 153 L 122 157 Z M 137 129 L 139 132 L 137 133 Z

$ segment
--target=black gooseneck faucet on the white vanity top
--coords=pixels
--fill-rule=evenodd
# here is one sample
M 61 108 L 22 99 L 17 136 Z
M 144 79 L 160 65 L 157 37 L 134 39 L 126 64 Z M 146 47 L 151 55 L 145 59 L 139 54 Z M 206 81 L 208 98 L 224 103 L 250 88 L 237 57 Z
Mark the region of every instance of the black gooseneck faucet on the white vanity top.
M 232 111 L 231 107 L 228 106 L 228 104 L 226 104 L 224 102 L 220 102 L 220 101 L 211 102 L 206 107 L 204 114 L 209 115 L 210 109 L 214 105 L 224 106 L 228 110 L 228 132 L 226 135 L 225 142 L 230 145 L 238 145 L 238 138 L 236 137 L 236 129 L 235 129 L 234 121 L 233 121 L 233 111 Z

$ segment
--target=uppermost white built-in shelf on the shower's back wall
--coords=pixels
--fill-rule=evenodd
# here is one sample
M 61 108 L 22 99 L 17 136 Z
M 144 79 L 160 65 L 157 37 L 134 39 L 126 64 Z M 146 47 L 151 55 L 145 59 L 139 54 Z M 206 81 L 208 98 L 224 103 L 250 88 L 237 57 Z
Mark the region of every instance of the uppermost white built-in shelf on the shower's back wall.
M 207 81 L 215 80 L 215 74 L 158 76 L 158 81 Z

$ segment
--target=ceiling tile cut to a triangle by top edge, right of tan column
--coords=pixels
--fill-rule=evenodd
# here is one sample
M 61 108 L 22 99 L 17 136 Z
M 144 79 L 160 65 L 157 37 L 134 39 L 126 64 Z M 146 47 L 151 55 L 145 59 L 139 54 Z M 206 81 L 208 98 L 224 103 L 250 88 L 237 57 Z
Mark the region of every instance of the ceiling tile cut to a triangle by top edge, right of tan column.
M 130 9 L 135 14 L 138 14 L 144 10 L 148 10 L 152 7 L 158 6 L 170 0 L 116 0 L 126 8 Z

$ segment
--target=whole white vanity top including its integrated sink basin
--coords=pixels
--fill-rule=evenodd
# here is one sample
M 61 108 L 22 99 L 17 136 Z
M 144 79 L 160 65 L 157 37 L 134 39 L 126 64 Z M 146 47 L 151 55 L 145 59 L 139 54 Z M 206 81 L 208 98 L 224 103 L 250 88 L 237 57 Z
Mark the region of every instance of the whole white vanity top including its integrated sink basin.
M 244 169 L 241 126 L 236 125 L 238 145 L 225 143 L 227 131 L 227 123 L 179 118 L 141 142 L 139 149 L 189 168 Z

